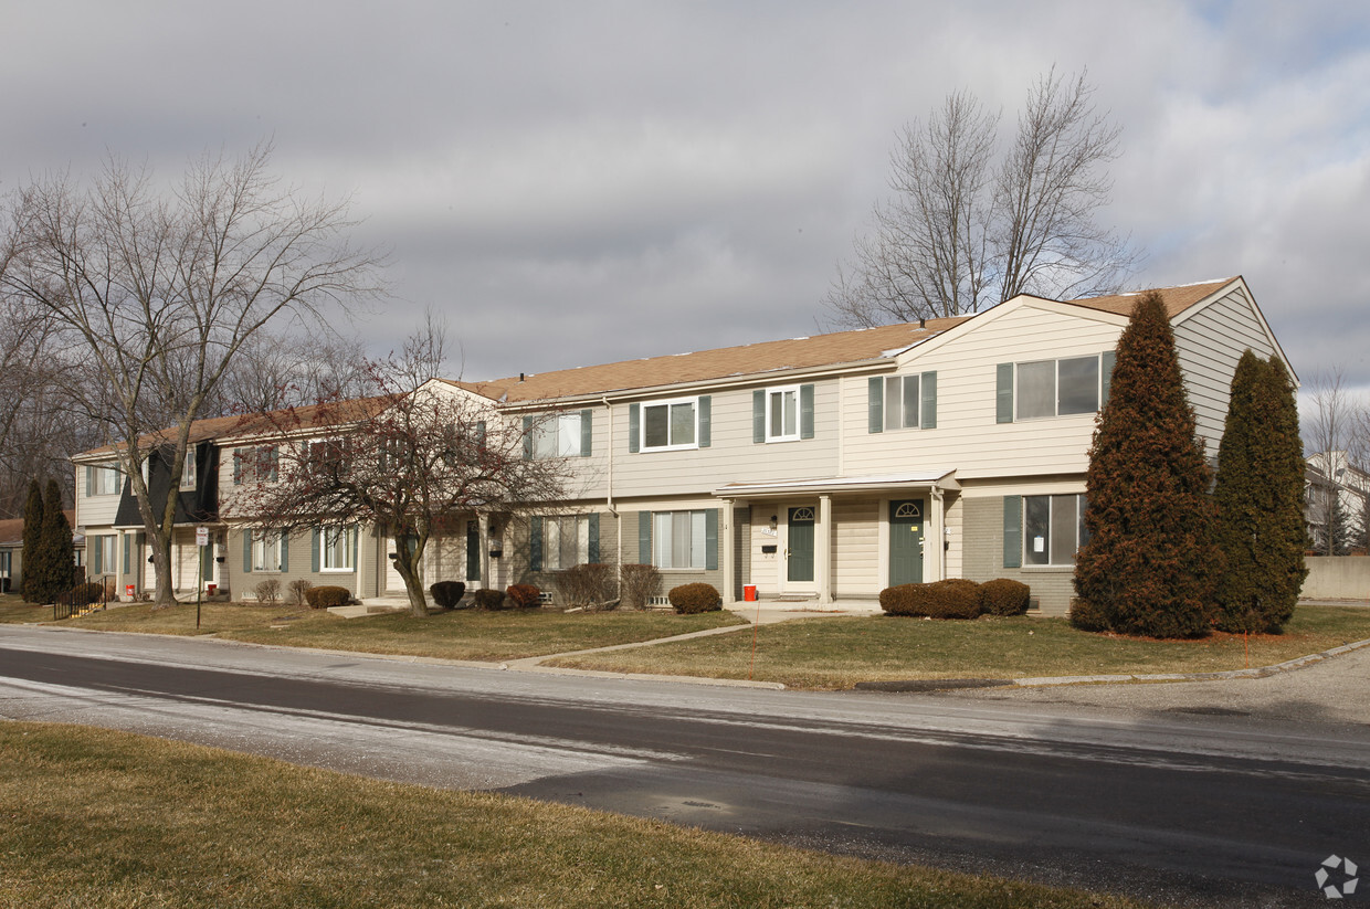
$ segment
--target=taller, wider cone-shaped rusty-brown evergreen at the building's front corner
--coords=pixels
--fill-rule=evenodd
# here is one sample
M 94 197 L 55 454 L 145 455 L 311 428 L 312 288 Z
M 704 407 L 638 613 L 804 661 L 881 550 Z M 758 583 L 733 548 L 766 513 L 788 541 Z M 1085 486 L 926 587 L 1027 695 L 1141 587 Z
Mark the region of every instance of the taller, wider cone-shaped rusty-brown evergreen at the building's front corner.
M 1075 556 L 1075 593 L 1111 630 L 1208 632 L 1222 565 L 1211 478 L 1170 318 L 1160 294 L 1148 293 L 1118 340 L 1110 398 L 1089 448 L 1089 542 Z

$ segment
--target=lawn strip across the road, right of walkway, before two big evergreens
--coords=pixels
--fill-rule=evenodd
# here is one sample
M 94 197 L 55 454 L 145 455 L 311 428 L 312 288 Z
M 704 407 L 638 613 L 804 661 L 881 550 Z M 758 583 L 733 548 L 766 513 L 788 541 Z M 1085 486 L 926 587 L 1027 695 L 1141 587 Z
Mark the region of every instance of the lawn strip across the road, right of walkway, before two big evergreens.
M 1282 635 L 1249 641 L 1251 665 L 1282 663 L 1370 638 L 1370 609 L 1300 606 Z M 1148 641 L 1075 631 L 1064 619 L 925 622 L 870 616 L 803 619 L 752 632 L 549 660 L 612 672 L 703 675 L 848 689 L 856 682 L 1218 672 L 1247 665 L 1241 637 Z

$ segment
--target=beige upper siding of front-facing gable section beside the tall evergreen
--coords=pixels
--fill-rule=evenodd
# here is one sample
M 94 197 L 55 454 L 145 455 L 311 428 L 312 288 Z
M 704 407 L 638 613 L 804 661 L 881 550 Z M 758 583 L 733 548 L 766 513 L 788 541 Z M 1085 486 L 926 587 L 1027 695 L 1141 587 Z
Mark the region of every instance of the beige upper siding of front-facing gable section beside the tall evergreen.
M 1111 319 L 1111 320 L 1108 320 Z M 1084 318 L 1022 305 L 975 331 L 900 359 L 899 375 L 937 372 L 937 427 L 869 433 L 867 376 L 843 386 L 843 471 L 956 470 L 958 478 L 1084 471 L 1095 415 L 996 423 L 995 368 L 1000 363 L 1074 357 L 1117 346 L 1117 318 Z

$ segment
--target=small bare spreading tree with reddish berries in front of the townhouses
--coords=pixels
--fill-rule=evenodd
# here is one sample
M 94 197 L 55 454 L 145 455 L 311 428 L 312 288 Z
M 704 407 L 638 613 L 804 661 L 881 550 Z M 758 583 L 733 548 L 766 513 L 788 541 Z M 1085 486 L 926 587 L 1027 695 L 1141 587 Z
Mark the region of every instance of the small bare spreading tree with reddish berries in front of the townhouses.
M 525 435 L 540 424 L 522 428 L 490 401 L 430 378 L 443 349 L 430 319 L 399 359 L 373 368 L 369 397 L 264 415 L 253 433 L 275 441 L 275 478 L 244 483 L 222 513 L 286 531 L 375 527 L 396 542 L 411 613 L 426 616 L 432 539 L 453 533 L 458 516 L 547 511 L 566 498 L 570 479 L 566 459 L 529 457 Z

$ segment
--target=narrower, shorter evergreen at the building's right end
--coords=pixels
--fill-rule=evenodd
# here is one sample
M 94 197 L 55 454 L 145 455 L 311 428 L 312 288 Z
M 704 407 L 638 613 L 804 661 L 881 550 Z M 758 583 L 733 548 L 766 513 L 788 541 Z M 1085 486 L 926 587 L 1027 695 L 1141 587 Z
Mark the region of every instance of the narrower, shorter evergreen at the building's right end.
M 1308 545 L 1299 407 L 1278 357 L 1262 360 L 1247 350 L 1237 363 L 1214 500 L 1226 556 L 1215 624 L 1278 632 L 1299 601 Z

